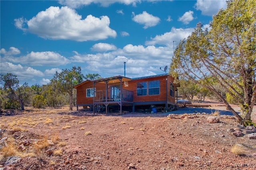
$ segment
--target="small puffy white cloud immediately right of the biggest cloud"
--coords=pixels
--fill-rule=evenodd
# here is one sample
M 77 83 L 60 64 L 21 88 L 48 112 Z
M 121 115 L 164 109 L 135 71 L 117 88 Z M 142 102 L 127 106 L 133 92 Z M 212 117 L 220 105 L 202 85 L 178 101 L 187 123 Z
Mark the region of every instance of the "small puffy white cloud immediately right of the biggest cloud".
M 138 24 L 144 25 L 144 29 L 148 27 L 156 26 L 160 22 L 160 18 L 153 16 L 151 14 L 148 14 L 146 11 L 143 11 L 142 14 L 135 15 L 134 12 L 132 12 L 133 18 L 132 20 L 134 22 L 137 22 Z

